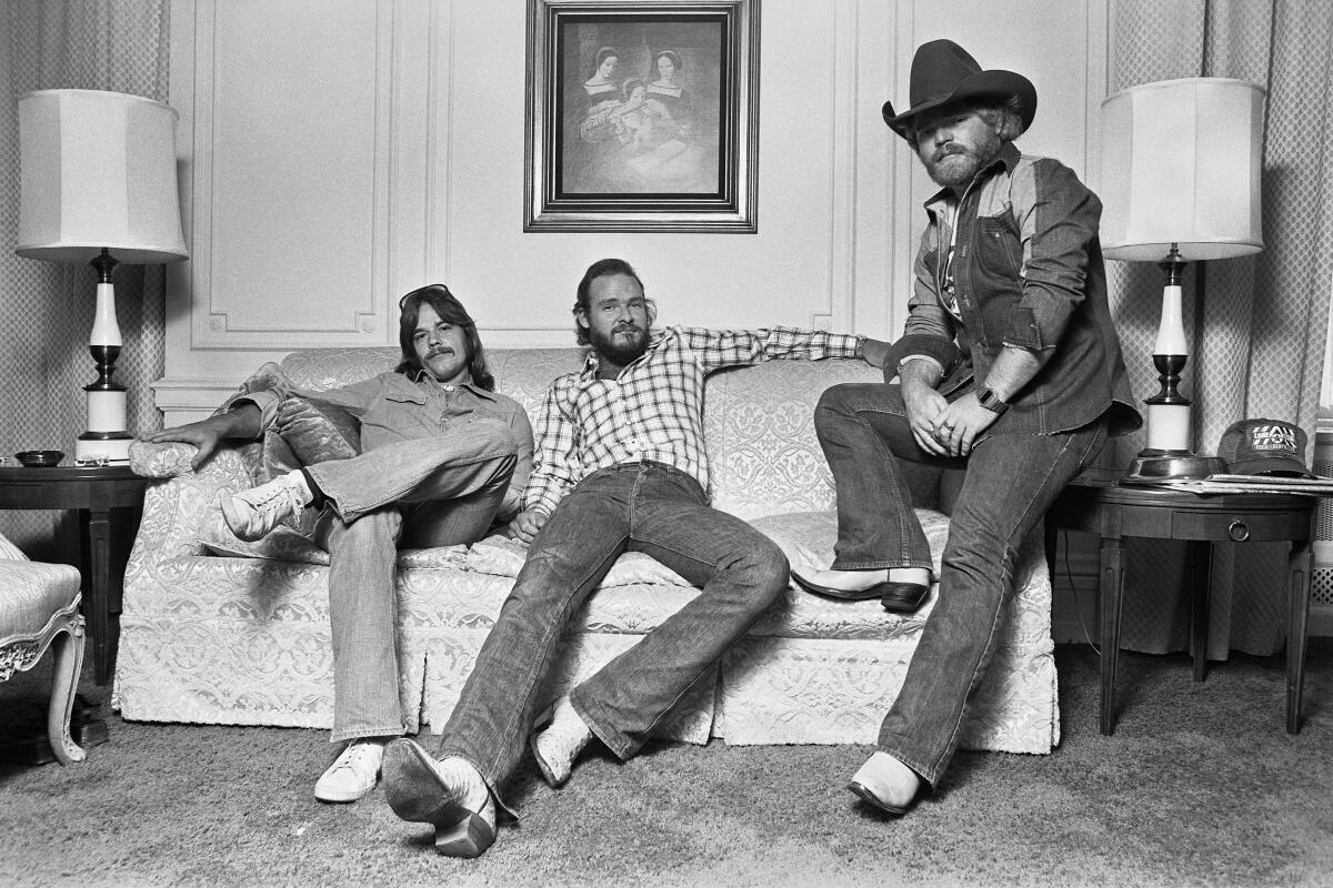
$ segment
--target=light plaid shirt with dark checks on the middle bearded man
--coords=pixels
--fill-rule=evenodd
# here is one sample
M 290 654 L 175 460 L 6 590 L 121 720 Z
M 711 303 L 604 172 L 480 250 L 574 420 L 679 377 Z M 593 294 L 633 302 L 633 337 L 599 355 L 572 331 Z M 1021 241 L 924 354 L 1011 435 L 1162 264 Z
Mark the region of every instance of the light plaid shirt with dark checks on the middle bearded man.
M 772 358 L 858 358 L 864 337 L 773 328 L 666 328 L 615 379 L 597 378 L 597 357 L 559 377 L 537 418 L 533 471 L 524 507 L 551 514 L 580 481 L 627 462 L 660 462 L 708 490 L 704 377 Z

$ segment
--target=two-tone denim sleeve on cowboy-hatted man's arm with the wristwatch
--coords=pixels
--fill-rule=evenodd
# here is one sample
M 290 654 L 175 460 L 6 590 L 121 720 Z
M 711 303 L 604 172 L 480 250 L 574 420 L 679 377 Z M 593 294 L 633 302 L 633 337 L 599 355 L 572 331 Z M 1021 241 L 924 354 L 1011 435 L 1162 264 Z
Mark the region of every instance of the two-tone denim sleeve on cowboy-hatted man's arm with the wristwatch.
M 1060 342 L 1084 300 L 1101 201 L 1073 170 L 1049 157 L 1014 170 L 1010 200 L 1024 281 L 1001 338 L 1009 346 L 1046 351 Z

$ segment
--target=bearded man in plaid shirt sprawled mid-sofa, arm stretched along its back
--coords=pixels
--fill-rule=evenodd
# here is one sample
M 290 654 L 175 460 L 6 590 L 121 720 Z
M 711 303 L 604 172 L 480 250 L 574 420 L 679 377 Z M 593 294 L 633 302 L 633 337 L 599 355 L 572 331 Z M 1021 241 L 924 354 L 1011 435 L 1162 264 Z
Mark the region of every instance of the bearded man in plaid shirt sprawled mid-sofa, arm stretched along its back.
M 656 306 L 623 260 L 593 264 L 575 305 L 583 371 L 560 377 L 537 419 L 533 473 L 513 534 L 532 543 L 459 704 L 439 758 L 389 744 L 384 780 L 404 820 L 431 823 L 436 851 L 475 857 L 495 841 L 499 788 L 537 720 L 537 692 L 569 619 L 625 551 L 641 551 L 701 592 L 561 699 L 532 751 L 552 785 L 597 736 L 633 756 L 670 707 L 786 587 L 782 551 L 708 505 L 704 377 L 770 358 L 864 358 L 888 345 L 774 328 L 652 332 Z M 505 807 L 508 811 L 509 808 Z

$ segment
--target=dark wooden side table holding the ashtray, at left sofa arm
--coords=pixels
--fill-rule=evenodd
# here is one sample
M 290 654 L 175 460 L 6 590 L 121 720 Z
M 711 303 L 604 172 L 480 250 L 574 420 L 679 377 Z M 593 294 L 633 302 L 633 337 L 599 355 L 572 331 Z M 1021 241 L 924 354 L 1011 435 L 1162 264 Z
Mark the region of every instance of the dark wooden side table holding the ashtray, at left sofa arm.
M 105 684 L 116 667 L 125 562 L 147 483 L 129 466 L 0 466 L 0 509 L 65 511 L 60 559 L 83 574 L 83 611 L 97 684 Z

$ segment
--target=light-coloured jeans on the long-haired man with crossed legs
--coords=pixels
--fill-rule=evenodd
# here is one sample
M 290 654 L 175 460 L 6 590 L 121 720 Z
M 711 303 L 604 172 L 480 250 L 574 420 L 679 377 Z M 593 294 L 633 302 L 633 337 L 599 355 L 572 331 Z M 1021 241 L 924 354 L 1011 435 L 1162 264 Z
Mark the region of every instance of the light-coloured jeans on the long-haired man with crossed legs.
M 397 545 L 481 539 L 516 453 L 509 426 L 484 419 L 307 469 L 328 499 L 315 537 L 329 554 L 333 743 L 403 734 Z

